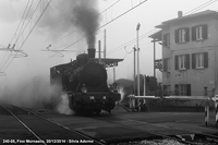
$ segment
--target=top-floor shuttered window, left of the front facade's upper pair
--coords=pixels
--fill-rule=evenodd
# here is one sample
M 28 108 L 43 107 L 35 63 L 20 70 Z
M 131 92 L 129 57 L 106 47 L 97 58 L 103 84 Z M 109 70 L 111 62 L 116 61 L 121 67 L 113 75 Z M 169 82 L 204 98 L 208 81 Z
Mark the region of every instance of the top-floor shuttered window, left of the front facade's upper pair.
M 175 43 L 177 44 L 186 43 L 190 40 L 190 28 L 189 27 L 175 29 L 174 34 L 175 34 Z

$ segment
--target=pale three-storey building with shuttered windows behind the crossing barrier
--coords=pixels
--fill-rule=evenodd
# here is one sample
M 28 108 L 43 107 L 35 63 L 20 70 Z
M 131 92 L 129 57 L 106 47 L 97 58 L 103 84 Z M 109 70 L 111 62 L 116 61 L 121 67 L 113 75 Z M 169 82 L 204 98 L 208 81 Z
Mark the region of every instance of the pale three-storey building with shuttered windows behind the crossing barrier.
M 162 44 L 162 85 L 170 95 L 213 96 L 218 93 L 218 12 L 203 11 L 156 26 L 149 36 Z M 155 62 L 155 60 L 154 60 Z

